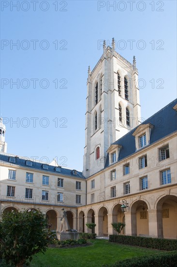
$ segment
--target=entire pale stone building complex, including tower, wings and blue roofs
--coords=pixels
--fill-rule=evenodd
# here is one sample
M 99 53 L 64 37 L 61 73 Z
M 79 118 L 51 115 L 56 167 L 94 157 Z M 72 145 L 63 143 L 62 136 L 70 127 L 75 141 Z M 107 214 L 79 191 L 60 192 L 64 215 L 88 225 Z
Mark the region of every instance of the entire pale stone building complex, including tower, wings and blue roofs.
M 59 231 L 64 207 L 79 232 L 121 221 L 122 234 L 177 238 L 177 100 L 141 122 L 137 80 L 135 58 L 104 42 L 88 68 L 83 172 L 8 154 L 1 120 L 0 212 L 39 208 Z

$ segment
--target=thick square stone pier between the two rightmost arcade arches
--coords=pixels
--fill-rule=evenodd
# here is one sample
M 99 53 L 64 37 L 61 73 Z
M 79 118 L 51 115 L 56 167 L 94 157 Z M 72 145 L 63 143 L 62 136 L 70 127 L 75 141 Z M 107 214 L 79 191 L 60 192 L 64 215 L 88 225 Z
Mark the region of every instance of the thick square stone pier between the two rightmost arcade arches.
M 149 236 L 163 238 L 162 210 L 148 210 Z

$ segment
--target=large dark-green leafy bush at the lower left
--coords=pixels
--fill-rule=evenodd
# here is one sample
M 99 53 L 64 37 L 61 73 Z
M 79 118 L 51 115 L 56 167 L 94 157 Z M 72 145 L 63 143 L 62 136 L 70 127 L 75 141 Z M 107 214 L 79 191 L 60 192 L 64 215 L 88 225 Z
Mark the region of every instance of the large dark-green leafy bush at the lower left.
M 0 220 L 0 251 L 6 264 L 23 267 L 32 255 L 47 250 L 45 215 L 37 211 L 5 212 Z

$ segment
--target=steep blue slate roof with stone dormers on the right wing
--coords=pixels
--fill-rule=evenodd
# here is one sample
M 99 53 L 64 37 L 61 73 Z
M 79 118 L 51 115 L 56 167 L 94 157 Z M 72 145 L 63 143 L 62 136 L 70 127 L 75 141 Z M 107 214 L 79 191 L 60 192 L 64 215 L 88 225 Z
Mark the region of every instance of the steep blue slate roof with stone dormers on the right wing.
M 169 103 L 167 106 L 165 106 L 160 111 L 158 111 L 153 116 L 149 117 L 143 123 L 140 124 L 143 125 L 150 123 L 154 126 L 151 130 L 149 145 L 177 131 L 177 112 L 173 109 L 173 107 L 176 104 L 177 104 L 177 99 Z M 112 144 L 112 145 L 122 146 L 119 152 L 118 161 L 136 152 L 135 137 L 132 134 L 136 131 L 136 129 L 140 125 L 138 125 L 131 132 L 125 134 Z M 104 167 L 108 166 L 109 166 L 109 157 L 107 155 Z

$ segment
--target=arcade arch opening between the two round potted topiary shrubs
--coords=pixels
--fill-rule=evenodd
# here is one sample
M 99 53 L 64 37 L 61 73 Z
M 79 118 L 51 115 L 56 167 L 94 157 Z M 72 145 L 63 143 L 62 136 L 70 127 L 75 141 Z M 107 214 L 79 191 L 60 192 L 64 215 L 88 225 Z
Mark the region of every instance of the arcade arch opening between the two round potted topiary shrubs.
M 98 211 L 98 234 L 108 235 L 108 209 L 106 207 L 101 207 Z

